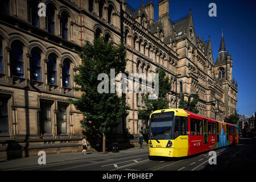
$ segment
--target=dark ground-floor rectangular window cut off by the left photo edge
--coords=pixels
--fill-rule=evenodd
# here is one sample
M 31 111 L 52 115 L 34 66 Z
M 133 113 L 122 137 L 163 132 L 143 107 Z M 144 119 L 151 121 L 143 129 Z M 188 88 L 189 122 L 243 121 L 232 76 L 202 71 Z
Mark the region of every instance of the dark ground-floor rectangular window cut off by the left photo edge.
M 9 133 L 8 101 L 0 98 L 0 133 Z

